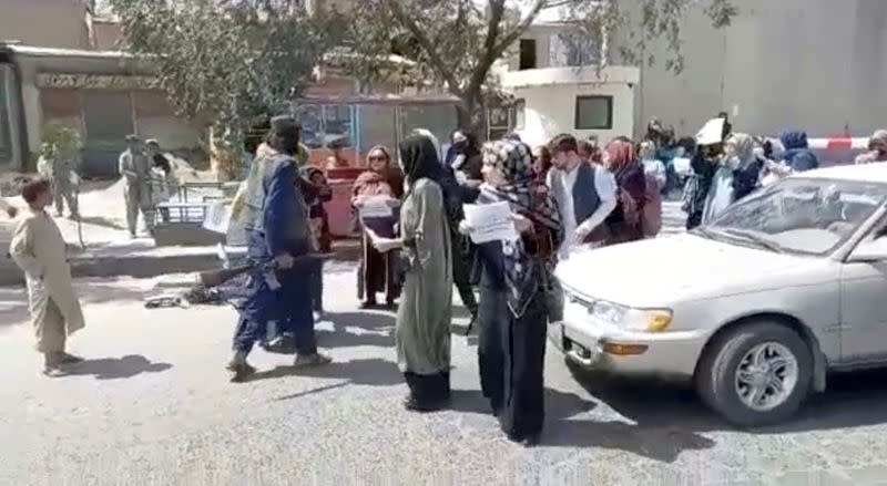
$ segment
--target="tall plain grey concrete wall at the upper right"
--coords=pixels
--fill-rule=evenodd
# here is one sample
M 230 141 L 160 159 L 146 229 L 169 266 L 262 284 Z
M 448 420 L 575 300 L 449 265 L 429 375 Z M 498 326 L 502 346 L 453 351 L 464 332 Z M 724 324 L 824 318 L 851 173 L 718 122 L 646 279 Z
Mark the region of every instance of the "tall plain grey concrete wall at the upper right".
M 734 130 L 757 134 L 798 127 L 812 136 L 867 135 L 887 125 L 887 1 L 743 0 L 737 7 L 733 25 L 721 31 L 701 12 L 685 20 L 681 75 L 661 62 L 642 69 L 635 133 L 657 116 L 692 135 L 721 110 L 731 113 Z M 620 42 L 615 32 L 613 46 Z M 651 52 L 664 59 L 662 44 Z

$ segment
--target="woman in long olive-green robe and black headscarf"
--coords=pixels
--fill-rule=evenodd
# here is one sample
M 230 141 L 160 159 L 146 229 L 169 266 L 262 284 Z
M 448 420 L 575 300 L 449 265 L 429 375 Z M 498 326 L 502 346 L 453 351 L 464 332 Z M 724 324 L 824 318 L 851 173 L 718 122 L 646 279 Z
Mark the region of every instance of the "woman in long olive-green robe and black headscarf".
M 402 249 L 406 273 L 397 309 L 395 345 L 409 396 L 407 410 L 442 407 L 450 394 L 452 254 L 441 165 L 435 145 L 412 135 L 400 144 L 407 194 L 400 208 L 400 236 L 385 238 L 367 228 L 378 251 Z

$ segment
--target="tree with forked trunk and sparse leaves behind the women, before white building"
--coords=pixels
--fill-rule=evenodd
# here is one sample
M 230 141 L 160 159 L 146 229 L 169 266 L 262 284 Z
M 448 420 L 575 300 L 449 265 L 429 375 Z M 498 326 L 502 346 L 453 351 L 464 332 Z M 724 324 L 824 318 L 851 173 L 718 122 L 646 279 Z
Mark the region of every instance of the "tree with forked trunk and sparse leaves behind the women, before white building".
M 495 87 L 495 63 L 521 38 L 543 9 L 559 8 L 591 43 L 605 44 L 608 32 L 632 32 L 634 41 L 619 52 L 630 63 L 653 39 L 667 40 L 669 69 L 680 71 L 682 20 L 696 0 L 360 0 L 350 25 L 349 45 L 363 54 L 356 73 L 384 74 L 379 63 L 389 53 L 418 63 L 418 80 L 431 81 L 457 96 L 460 126 L 479 130 L 485 97 Z M 715 28 L 730 23 L 736 10 L 730 0 L 704 0 Z M 605 59 L 603 59 L 605 61 Z

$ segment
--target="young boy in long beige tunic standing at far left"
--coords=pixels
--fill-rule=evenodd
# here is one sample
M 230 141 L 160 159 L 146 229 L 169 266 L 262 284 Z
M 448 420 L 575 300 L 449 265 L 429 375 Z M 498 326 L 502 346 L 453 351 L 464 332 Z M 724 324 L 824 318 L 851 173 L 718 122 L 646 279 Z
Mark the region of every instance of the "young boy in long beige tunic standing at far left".
M 28 209 L 22 211 L 9 252 L 28 282 L 37 350 L 44 356 L 43 373 L 61 376 L 65 365 L 82 361 L 65 352 L 65 340 L 85 325 L 83 312 L 71 280 L 64 238 L 45 211 L 53 199 L 50 182 L 29 182 L 21 195 Z

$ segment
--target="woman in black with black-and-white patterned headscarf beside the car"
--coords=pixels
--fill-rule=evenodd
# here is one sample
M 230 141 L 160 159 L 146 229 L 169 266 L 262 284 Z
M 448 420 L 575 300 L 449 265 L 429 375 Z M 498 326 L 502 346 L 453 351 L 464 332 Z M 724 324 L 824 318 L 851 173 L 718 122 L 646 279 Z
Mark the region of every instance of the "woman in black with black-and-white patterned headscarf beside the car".
M 550 266 L 563 226 L 554 200 L 533 190 L 532 155 L 514 141 L 483 147 L 485 185 L 478 204 L 506 201 L 520 238 L 479 245 L 480 343 L 483 395 L 511 441 L 538 442 L 544 421 L 543 369 Z M 472 228 L 466 223 L 463 234 Z

